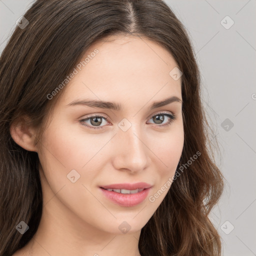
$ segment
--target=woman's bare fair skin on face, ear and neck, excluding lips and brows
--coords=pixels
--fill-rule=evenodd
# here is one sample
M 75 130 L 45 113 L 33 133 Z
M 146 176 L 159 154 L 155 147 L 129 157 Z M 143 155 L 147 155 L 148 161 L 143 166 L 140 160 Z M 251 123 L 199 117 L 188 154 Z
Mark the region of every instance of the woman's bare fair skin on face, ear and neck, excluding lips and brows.
M 37 130 L 26 122 L 10 128 L 17 144 L 38 153 L 43 192 L 39 227 L 14 256 L 138 256 L 141 228 L 168 191 L 169 186 L 149 200 L 174 175 L 181 156 L 181 102 L 149 106 L 171 96 L 182 100 L 181 79 L 169 75 L 177 64 L 166 49 L 146 38 L 109 38 L 91 45 L 85 55 L 95 48 L 99 52 L 62 88 L 41 147 L 33 143 Z M 68 105 L 85 98 L 116 102 L 122 109 Z M 170 119 L 162 115 L 162 122 L 156 122 L 154 116 L 162 112 L 176 117 L 161 126 Z M 98 127 L 92 118 L 80 122 L 93 115 L 104 117 L 98 119 L 102 128 L 89 128 Z M 118 126 L 123 118 L 128 120 L 124 126 L 131 124 L 126 131 Z M 67 178 L 72 169 L 80 175 L 74 183 Z M 144 201 L 130 207 L 113 203 L 99 189 L 140 181 L 152 187 Z M 126 233 L 118 228 L 123 221 L 130 226 Z

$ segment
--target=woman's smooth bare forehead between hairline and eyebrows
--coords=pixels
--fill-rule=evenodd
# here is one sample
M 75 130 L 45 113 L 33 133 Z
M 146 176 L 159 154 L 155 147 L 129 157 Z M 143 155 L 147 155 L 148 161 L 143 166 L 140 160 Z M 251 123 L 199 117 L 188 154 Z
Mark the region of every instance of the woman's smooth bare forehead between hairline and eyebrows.
M 154 95 L 152 100 L 181 95 L 180 79 L 169 75 L 177 66 L 174 58 L 160 44 L 145 37 L 105 37 L 87 49 L 79 66 L 66 85 L 65 103 L 81 97 L 109 101 L 118 97 L 118 102 L 126 102 L 149 100 Z

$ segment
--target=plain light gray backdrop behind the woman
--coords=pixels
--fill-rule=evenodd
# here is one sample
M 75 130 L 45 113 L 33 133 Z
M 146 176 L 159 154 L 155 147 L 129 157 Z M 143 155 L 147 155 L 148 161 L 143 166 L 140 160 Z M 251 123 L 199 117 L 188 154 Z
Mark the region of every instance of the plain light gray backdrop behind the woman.
M 0 52 L 32 2 L 0 0 Z M 212 139 L 220 148 L 215 157 L 226 185 L 211 219 L 222 237 L 222 253 L 256 255 L 256 0 L 165 2 L 192 40 Z

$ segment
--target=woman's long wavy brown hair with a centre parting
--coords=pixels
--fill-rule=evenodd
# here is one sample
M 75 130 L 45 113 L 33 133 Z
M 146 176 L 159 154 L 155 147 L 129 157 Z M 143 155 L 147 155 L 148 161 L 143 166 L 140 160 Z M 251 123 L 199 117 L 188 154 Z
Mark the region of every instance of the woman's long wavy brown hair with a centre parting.
M 0 57 L 0 256 L 12 255 L 32 238 L 42 212 L 38 155 L 14 142 L 10 125 L 27 115 L 41 128 L 38 142 L 64 88 L 52 100 L 46 95 L 93 42 L 118 33 L 160 43 L 183 73 L 184 145 L 177 171 L 183 169 L 142 228 L 140 254 L 220 255 L 220 237 L 208 213 L 221 195 L 223 177 L 207 146 L 210 127 L 195 54 L 169 6 L 162 0 L 37 0 L 24 17 L 29 24 L 15 28 Z M 200 156 L 187 164 L 196 152 Z M 15 228 L 22 220 L 29 226 L 24 234 Z

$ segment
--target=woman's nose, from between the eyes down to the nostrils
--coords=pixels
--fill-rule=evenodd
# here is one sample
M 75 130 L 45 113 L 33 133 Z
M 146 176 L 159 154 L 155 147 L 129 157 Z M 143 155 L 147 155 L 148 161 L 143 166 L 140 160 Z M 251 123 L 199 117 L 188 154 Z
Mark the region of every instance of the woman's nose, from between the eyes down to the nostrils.
M 135 125 L 114 137 L 113 165 L 115 169 L 126 169 L 132 173 L 143 171 L 150 163 L 149 149 L 141 128 Z

